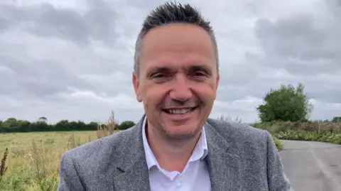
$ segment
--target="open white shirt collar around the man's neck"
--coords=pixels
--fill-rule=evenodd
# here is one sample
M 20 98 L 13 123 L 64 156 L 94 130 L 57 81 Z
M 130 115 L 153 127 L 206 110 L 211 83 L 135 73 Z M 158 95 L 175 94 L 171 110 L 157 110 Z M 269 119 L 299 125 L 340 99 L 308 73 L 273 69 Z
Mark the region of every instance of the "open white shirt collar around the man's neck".
M 146 137 L 146 120 L 147 117 L 144 118 L 144 124 L 142 124 L 142 140 L 144 143 L 144 152 L 146 154 L 146 162 L 148 169 L 153 167 L 154 165 L 158 165 L 158 161 L 156 160 L 155 156 L 153 155 L 153 152 L 151 151 L 151 148 L 148 144 L 147 137 Z M 202 127 L 202 133 L 200 135 L 199 141 L 197 141 L 197 145 L 195 146 L 195 149 L 190 156 L 189 162 L 195 161 L 195 160 L 203 160 L 208 153 L 207 149 L 207 140 L 206 140 L 206 133 L 205 133 L 205 127 Z

